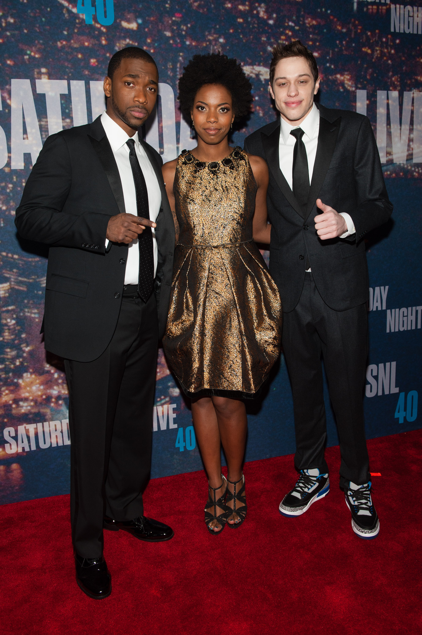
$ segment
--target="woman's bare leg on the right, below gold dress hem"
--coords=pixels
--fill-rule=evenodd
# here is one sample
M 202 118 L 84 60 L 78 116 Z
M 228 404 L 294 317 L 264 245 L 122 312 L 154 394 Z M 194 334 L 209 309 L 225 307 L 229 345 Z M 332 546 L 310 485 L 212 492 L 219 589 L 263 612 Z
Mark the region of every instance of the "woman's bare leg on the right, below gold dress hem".
M 228 480 L 239 481 L 242 478 L 242 462 L 247 432 L 245 404 L 238 399 L 225 397 L 212 397 L 211 399 L 217 415 L 221 443 L 227 458 Z M 228 483 L 228 488 L 233 493 L 234 485 Z M 239 485 L 237 490 L 239 491 Z M 228 502 L 228 507 L 233 508 L 233 501 Z M 227 522 L 230 525 L 235 525 L 239 520 L 239 516 L 234 513 L 228 517 Z

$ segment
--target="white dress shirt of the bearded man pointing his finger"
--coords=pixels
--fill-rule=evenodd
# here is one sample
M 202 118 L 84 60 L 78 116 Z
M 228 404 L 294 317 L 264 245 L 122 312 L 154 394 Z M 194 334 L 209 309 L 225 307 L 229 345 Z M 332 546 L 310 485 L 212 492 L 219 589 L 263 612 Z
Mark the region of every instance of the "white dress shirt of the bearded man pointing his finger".
M 150 160 L 147 157 L 147 153 L 143 149 L 138 139 L 138 133 L 136 132 L 133 137 L 129 137 L 126 132 L 113 121 L 109 115 L 103 112 L 101 116 L 101 123 L 105 130 L 105 134 L 113 150 L 115 162 L 117 168 L 119 168 L 120 180 L 122 182 L 124 207 L 127 214 L 138 215 L 136 208 L 136 190 L 135 183 L 133 181 L 132 168 L 129 161 L 129 147 L 126 145 L 128 139 L 135 141 L 135 152 L 138 157 L 140 168 L 145 177 L 145 183 L 147 184 L 148 191 L 148 204 L 150 211 L 150 220 L 157 219 L 161 208 L 161 190 L 158 184 L 157 177 L 154 172 L 154 168 L 150 164 Z M 109 241 L 105 241 L 105 246 L 109 244 Z M 155 231 L 152 228 L 152 245 L 154 248 L 154 277 L 157 272 L 157 240 L 155 239 Z M 124 274 L 124 284 L 138 284 L 139 277 L 139 249 L 138 239 L 129 243 L 128 260 L 126 261 L 126 271 Z

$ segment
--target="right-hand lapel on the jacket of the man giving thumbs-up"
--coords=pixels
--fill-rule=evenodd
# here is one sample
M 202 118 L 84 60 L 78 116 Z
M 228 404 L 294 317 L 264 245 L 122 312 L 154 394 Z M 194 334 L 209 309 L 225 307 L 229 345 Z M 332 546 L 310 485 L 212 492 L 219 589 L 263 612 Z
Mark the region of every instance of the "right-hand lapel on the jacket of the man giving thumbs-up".
M 310 215 L 315 201 L 318 198 L 324 178 L 327 176 L 329 164 L 331 163 L 331 157 L 333 156 L 334 148 L 336 147 L 338 131 L 340 130 L 341 117 L 330 123 L 324 117 L 319 118 L 319 133 L 318 133 L 318 145 L 317 154 L 315 156 L 315 163 L 313 164 L 312 181 L 309 189 L 308 204 L 306 217 Z

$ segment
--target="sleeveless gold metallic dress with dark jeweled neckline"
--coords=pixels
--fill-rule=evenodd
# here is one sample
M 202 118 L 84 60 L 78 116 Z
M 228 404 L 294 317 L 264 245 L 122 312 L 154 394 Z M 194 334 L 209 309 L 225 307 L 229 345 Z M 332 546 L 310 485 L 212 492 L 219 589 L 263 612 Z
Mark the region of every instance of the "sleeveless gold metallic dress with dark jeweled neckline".
M 279 356 L 279 292 L 252 239 L 256 189 L 240 148 L 213 163 L 187 150 L 178 159 L 180 236 L 162 342 L 191 398 L 253 398 Z

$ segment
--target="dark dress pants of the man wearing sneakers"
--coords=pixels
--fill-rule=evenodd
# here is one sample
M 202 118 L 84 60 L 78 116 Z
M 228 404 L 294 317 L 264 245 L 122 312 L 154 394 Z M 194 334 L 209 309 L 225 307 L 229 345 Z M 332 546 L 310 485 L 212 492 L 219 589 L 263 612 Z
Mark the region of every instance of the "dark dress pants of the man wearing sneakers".
M 340 486 L 369 480 L 363 411 L 368 352 L 366 304 L 334 311 L 320 297 L 309 272 L 298 305 L 283 315 L 282 345 L 293 389 L 296 469 L 317 467 L 327 438 L 322 361 L 340 439 Z

